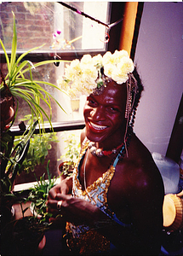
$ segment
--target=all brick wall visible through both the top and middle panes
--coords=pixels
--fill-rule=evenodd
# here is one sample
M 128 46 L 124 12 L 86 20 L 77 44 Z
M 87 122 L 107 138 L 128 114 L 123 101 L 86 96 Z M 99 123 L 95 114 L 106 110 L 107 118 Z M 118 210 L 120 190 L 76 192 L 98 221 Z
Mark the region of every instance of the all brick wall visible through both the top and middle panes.
M 28 3 L 26 3 L 28 4 Z M 17 30 L 17 50 L 27 50 L 44 43 L 46 45 L 42 49 L 49 49 L 53 43 L 54 32 L 54 3 L 29 3 L 28 8 L 24 2 L 4 2 L 0 4 L 0 17 L 1 17 L 1 39 L 5 48 L 11 49 L 12 37 L 13 37 L 13 14 L 15 15 L 16 30 Z M 38 59 L 36 61 L 39 61 Z M 6 76 L 6 63 L 1 63 L 1 69 L 4 77 Z M 37 67 L 36 71 L 33 71 L 33 78 L 37 80 L 45 80 L 47 82 L 56 84 L 55 68 L 54 64 L 49 64 L 43 67 Z M 46 85 L 43 85 L 44 88 Z M 48 88 L 49 92 L 54 95 L 54 90 Z M 51 100 L 52 107 L 55 108 L 55 103 Z M 44 102 L 41 102 L 41 106 L 45 112 L 49 114 L 49 108 L 45 106 Z M 15 125 L 20 123 L 20 120 L 24 118 L 26 114 L 30 113 L 30 110 L 26 102 L 20 99 L 20 108 L 17 115 Z M 53 121 L 56 121 L 56 111 L 53 112 Z

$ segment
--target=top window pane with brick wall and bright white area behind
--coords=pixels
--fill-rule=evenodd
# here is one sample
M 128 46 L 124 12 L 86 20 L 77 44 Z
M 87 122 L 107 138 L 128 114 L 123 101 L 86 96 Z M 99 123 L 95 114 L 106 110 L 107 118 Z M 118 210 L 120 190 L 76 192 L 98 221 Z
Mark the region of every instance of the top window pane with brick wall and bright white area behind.
M 68 2 L 75 9 L 108 23 L 109 3 Z M 54 2 L 1 3 L 1 38 L 7 50 L 11 49 L 14 11 L 18 50 L 25 51 L 42 44 L 38 52 L 106 49 L 106 26 L 79 15 Z M 102 11 L 101 11 L 102 10 Z

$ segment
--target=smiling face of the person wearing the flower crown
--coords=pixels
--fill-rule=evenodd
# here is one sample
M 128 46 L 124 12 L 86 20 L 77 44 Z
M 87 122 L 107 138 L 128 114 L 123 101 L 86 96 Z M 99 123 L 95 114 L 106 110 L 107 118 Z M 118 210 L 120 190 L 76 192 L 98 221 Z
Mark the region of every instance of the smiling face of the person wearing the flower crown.
M 113 148 L 123 142 L 126 121 L 126 86 L 114 81 L 107 84 L 100 96 L 91 94 L 84 106 L 86 136 L 103 148 Z

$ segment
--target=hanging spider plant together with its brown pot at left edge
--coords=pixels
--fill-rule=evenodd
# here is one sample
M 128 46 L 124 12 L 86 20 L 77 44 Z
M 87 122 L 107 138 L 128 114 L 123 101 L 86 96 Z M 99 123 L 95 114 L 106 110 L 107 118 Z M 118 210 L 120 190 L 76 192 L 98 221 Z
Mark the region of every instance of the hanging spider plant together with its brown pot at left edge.
M 10 155 L 12 154 L 13 145 L 14 145 L 14 136 L 12 136 L 12 133 L 9 129 L 10 129 L 10 126 L 13 125 L 14 119 L 16 119 L 16 116 L 18 113 L 19 97 L 22 98 L 23 101 L 28 104 L 31 111 L 31 122 L 28 125 L 28 127 L 25 129 L 26 131 L 24 131 L 24 134 L 21 137 L 22 142 L 24 142 L 24 140 L 27 138 L 27 132 L 29 134 L 31 133 L 32 129 L 35 129 L 35 124 L 38 124 L 39 128 L 41 128 L 41 125 L 43 125 L 44 123 L 43 115 L 49 120 L 49 124 L 52 126 L 50 98 L 52 98 L 59 106 L 60 106 L 60 103 L 57 102 L 54 99 L 54 97 L 49 94 L 47 90 L 44 90 L 41 85 L 48 84 L 49 86 L 55 89 L 58 89 L 58 90 L 60 89 L 54 84 L 44 82 L 44 81 L 34 80 L 32 75 L 32 69 L 42 65 L 46 65 L 48 63 L 54 63 L 55 61 L 57 62 L 59 61 L 58 60 L 41 61 L 41 62 L 37 62 L 35 65 L 33 65 L 31 61 L 28 61 L 28 60 L 25 61 L 26 55 L 28 55 L 32 50 L 37 49 L 38 47 L 26 51 L 26 53 L 23 53 L 17 58 L 16 57 L 17 33 L 16 33 L 16 26 L 15 26 L 15 18 L 14 18 L 13 40 L 12 40 L 12 49 L 11 49 L 10 57 L 1 39 L 0 39 L 0 44 L 2 46 L 5 59 L 6 59 L 7 68 L 8 68 L 8 73 L 5 76 L 1 71 L 1 84 L 0 84 L 1 170 L 2 172 L 7 172 L 5 171 L 5 168 L 7 166 L 7 162 L 10 160 Z M 29 78 L 26 78 L 26 74 L 29 76 Z M 50 115 L 46 113 L 44 109 L 40 106 L 41 101 L 43 101 L 49 107 Z M 35 119 L 37 120 L 36 123 L 35 123 Z M 40 133 L 41 133 L 41 130 L 40 130 Z M 24 139 L 24 137 L 26 138 Z M 20 147 L 21 145 L 22 143 L 19 143 L 19 146 L 17 147 Z M 5 178 L 1 173 L 1 179 L 2 177 Z M 8 177 L 8 175 L 6 177 Z M 3 180 L 3 183 L 9 183 L 9 181 L 5 182 L 5 180 Z M 11 186 L 9 190 L 10 189 L 11 189 Z

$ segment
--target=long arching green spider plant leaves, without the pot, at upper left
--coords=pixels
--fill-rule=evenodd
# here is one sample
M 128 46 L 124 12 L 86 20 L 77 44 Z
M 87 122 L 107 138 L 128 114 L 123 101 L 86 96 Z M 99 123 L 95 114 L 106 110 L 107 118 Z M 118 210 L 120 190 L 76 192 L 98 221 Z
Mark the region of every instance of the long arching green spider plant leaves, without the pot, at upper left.
M 13 13 L 14 16 L 14 13 Z M 33 124 L 33 119 L 36 117 L 38 120 L 39 127 L 40 125 L 44 123 L 43 116 L 46 117 L 46 119 L 49 120 L 49 124 L 52 127 L 51 124 L 51 116 L 52 116 L 52 110 L 51 110 L 51 103 L 50 99 L 52 98 L 54 102 L 56 102 L 59 106 L 60 103 L 54 99 L 53 96 L 47 91 L 44 90 L 42 87 L 42 84 L 48 84 L 49 86 L 60 90 L 56 85 L 51 84 L 49 82 L 45 81 L 37 81 L 33 79 L 33 73 L 32 69 L 36 69 L 37 67 L 54 63 L 54 62 L 60 62 L 64 60 L 49 60 L 49 61 L 40 61 L 36 64 L 32 64 L 31 61 L 25 60 L 26 55 L 28 55 L 31 51 L 41 48 L 36 47 L 33 49 L 29 49 L 22 55 L 20 55 L 17 58 L 17 32 L 16 32 L 16 25 L 15 25 L 15 17 L 14 17 L 14 26 L 13 26 L 13 39 L 12 39 L 12 49 L 11 49 L 11 55 L 9 57 L 4 44 L 2 40 L 0 39 L 0 44 L 3 48 L 3 52 L 5 55 L 5 60 L 8 68 L 8 73 L 6 76 L 3 76 L 3 73 L 1 71 L 1 84 L 0 84 L 0 92 L 1 92 L 1 98 L 6 97 L 7 94 L 10 96 L 13 96 L 16 99 L 16 110 L 14 114 L 14 119 L 16 118 L 18 107 L 19 107 L 19 100 L 18 97 L 21 97 L 23 101 L 25 101 L 30 110 L 31 110 L 31 125 Z M 70 62 L 70 61 L 65 61 Z M 29 78 L 27 79 L 27 75 Z M 45 110 L 40 106 L 40 102 L 43 101 L 48 107 L 49 107 L 49 113 L 46 113 Z M 60 108 L 64 110 L 61 106 Z M 14 123 L 14 119 L 12 120 L 11 125 Z

